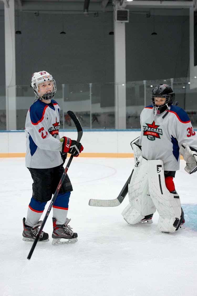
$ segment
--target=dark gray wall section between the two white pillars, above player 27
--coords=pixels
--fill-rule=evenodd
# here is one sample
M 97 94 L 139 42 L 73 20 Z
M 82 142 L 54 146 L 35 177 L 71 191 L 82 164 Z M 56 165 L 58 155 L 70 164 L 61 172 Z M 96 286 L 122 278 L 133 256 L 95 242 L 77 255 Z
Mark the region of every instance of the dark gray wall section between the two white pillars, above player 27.
M 46 70 L 57 84 L 105 83 L 114 80 L 111 13 L 89 17 L 19 12 L 16 35 L 17 84 L 29 84 L 31 74 Z M 16 17 L 17 28 L 17 17 Z

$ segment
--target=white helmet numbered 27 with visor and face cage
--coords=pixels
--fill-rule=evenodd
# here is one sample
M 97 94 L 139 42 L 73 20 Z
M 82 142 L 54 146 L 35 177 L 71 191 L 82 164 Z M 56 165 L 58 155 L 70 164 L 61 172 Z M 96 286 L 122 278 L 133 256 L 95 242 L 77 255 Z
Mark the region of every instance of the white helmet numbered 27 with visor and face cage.
M 50 83 L 52 84 L 52 87 L 49 87 Z M 41 100 L 53 99 L 57 91 L 55 80 L 53 79 L 52 75 L 46 71 L 34 73 L 32 75 L 30 86 L 34 89 L 36 96 Z M 49 89 L 51 90 L 50 92 L 48 92 Z M 42 93 L 40 94 L 40 92 Z

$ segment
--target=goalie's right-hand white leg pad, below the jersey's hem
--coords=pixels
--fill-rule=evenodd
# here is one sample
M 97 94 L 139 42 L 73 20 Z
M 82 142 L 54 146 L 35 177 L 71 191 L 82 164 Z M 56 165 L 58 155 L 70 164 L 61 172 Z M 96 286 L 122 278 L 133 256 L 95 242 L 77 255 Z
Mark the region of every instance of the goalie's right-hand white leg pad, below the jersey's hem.
M 182 214 L 179 196 L 170 193 L 165 185 L 162 160 L 148 160 L 147 172 L 150 196 L 159 213 L 157 228 L 161 232 L 174 232 Z

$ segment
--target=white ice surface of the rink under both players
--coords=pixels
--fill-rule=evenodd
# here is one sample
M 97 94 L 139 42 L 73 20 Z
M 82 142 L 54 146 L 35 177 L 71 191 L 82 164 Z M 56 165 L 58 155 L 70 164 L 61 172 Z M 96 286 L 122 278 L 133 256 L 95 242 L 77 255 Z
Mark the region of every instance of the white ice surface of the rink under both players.
M 22 218 L 32 179 L 24 158 L 1 158 L 0 296 L 196 296 L 197 173 L 188 175 L 183 160 L 175 177 L 183 230 L 160 233 L 157 213 L 152 224 L 128 225 L 121 215 L 128 195 L 118 207 L 88 205 L 90 198 L 116 198 L 133 164 L 128 158 L 74 158 L 68 217 L 78 242 L 51 245 L 51 210 L 43 229 L 50 241 L 38 243 L 29 261 L 32 243 L 22 241 Z

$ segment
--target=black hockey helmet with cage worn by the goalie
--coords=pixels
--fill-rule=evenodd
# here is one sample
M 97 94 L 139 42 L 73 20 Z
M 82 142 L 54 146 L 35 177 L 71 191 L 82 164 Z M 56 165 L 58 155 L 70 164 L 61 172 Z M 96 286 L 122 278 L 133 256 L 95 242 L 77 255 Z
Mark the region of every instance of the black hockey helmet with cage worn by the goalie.
M 155 97 L 165 98 L 165 102 L 161 106 L 159 106 L 158 104 L 156 105 Z M 170 105 L 172 105 L 174 100 L 175 100 L 175 93 L 173 92 L 173 90 L 169 85 L 159 84 L 155 86 L 151 94 L 151 102 L 154 107 L 154 114 L 156 115 L 156 114 L 163 113 L 165 110 L 167 110 L 167 108 Z

